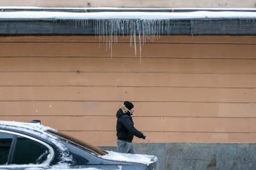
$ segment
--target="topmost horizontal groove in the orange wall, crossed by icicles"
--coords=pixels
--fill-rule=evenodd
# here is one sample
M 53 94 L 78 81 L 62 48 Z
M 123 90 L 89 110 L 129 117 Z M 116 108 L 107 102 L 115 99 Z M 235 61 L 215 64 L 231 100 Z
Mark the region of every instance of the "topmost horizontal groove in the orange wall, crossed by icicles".
M 160 39 L 160 38 L 158 38 Z M 90 43 L 90 44 L 109 44 L 106 41 L 0 41 L 0 43 Z M 132 42 L 133 44 L 134 42 Z M 139 41 L 136 41 L 139 43 Z M 112 44 L 130 44 L 130 41 L 113 41 Z M 152 42 L 150 40 L 141 41 L 141 44 L 213 44 L 213 45 L 256 45 L 256 42 Z

